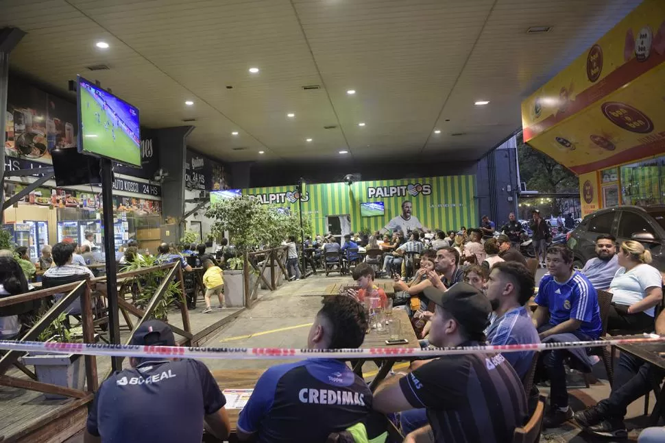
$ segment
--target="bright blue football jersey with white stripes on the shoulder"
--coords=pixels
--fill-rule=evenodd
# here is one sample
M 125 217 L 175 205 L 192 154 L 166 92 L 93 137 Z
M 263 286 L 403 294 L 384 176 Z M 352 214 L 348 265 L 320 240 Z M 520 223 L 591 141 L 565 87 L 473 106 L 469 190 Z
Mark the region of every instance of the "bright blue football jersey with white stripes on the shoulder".
M 549 309 L 550 324 L 559 325 L 570 318 L 582 322 L 579 331 L 596 340 L 603 330 L 598 294 L 591 282 L 575 271 L 565 283 L 550 274 L 540 280 L 535 303 Z

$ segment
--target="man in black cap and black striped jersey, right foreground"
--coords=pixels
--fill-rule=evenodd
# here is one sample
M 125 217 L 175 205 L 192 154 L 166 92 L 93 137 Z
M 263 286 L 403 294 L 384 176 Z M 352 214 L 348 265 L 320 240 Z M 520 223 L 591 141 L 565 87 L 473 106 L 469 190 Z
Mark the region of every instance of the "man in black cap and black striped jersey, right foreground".
M 426 288 L 436 304 L 430 342 L 435 346 L 479 346 L 492 307 L 467 283 L 448 291 Z M 425 408 L 429 425 L 404 442 L 509 442 L 527 418 L 520 377 L 500 354 L 444 355 L 387 379 L 374 393 L 374 409 L 389 413 Z

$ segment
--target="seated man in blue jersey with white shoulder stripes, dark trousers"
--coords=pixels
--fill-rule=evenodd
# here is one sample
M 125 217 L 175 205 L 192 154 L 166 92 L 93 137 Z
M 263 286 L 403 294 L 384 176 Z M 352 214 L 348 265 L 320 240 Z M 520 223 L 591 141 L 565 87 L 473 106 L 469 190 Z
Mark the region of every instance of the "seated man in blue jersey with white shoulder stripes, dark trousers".
M 603 325 L 598 307 L 598 294 L 590 281 L 572 268 L 573 253 L 563 245 L 547 250 L 549 274 L 540 280 L 533 314 L 533 325 L 543 342 L 574 342 L 597 340 Z M 539 373 L 551 383 L 551 409 L 543 418 L 544 427 L 558 427 L 570 420 L 564 359 L 575 357 L 573 364 L 590 370 L 588 356 L 582 348 L 553 349 L 541 353 Z

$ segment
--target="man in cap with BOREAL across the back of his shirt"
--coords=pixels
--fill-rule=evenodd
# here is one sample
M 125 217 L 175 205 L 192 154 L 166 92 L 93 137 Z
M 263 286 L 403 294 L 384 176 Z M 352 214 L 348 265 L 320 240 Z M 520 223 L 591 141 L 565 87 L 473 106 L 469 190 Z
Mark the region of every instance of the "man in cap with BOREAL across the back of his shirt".
M 173 332 L 159 320 L 141 324 L 132 344 L 176 346 Z M 130 357 L 132 368 L 101 383 L 88 412 L 86 443 L 200 442 L 206 429 L 228 438 L 226 398 L 198 360 Z

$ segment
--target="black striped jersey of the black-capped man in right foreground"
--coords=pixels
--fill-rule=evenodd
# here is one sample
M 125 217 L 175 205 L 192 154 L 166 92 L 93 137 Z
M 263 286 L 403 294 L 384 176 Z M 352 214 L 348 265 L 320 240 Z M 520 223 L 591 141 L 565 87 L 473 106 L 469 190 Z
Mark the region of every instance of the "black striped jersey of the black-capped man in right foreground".
M 437 442 L 511 442 L 527 418 L 522 381 L 501 354 L 446 355 L 399 383 L 411 406 L 427 410 Z

